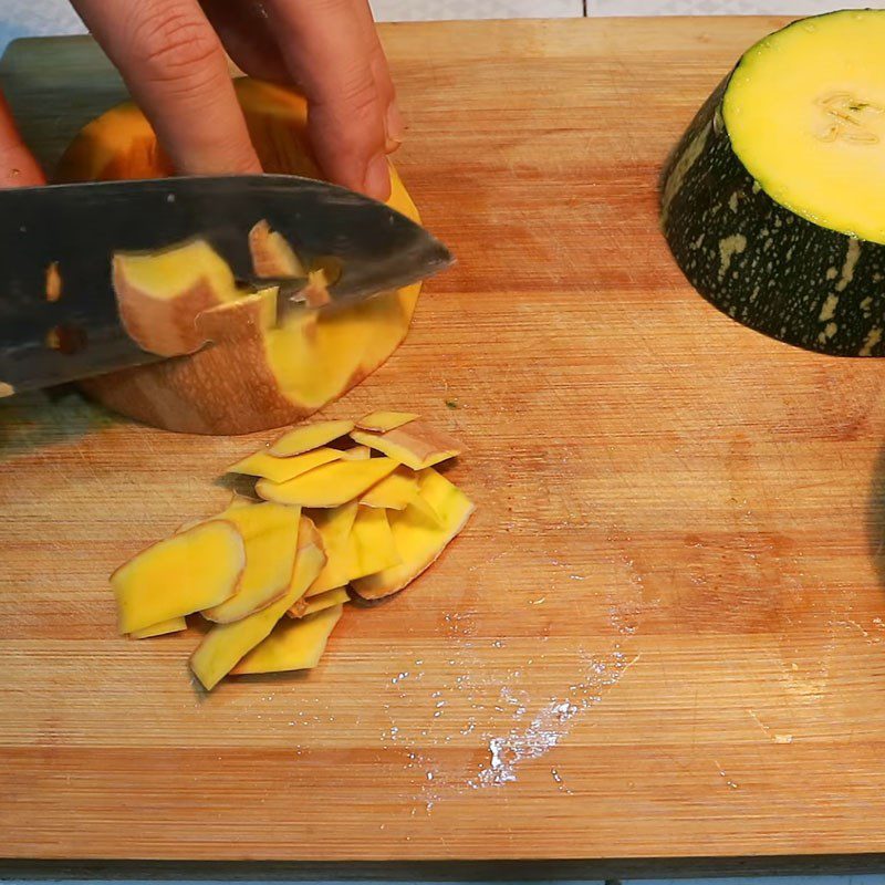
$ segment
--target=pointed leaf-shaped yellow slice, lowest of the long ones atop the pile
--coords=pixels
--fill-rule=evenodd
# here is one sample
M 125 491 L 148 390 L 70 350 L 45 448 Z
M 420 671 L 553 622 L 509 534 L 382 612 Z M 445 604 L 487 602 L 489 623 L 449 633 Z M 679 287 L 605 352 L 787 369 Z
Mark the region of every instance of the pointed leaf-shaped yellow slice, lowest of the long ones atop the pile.
M 333 461 L 288 482 L 260 479 L 256 491 L 266 501 L 300 507 L 341 507 L 358 498 L 397 468 L 393 458 L 368 461 Z

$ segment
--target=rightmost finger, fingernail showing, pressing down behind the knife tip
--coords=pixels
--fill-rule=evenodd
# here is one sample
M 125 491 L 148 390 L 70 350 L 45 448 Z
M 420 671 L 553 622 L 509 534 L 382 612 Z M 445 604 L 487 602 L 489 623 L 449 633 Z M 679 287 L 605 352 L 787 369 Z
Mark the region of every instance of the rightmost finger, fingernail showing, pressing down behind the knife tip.
M 267 0 L 267 9 L 287 66 L 308 96 L 311 140 L 323 171 L 345 187 L 387 199 L 387 107 L 375 82 L 376 50 L 364 14 L 357 14 L 364 3 Z

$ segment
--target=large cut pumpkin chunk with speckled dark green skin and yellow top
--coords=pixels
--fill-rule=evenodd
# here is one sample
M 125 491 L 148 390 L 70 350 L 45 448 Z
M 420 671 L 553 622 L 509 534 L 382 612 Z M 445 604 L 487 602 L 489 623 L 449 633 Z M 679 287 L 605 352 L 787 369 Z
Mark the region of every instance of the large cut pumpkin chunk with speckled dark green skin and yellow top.
M 881 51 L 885 12 L 805 19 L 741 59 L 664 168 L 662 229 L 732 319 L 820 353 L 885 356 L 885 70 L 861 64 L 858 81 L 852 35 Z

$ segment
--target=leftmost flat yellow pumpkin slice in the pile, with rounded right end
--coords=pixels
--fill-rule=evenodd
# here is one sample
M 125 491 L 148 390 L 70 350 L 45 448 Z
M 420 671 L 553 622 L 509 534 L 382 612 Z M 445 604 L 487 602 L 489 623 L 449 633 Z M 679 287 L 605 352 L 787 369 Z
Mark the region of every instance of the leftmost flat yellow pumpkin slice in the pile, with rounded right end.
M 244 568 L 243 539 L 226 520 L 201 522 L 149 546 L 111 575 L 119 632 L 220 605 L 237 591 Z

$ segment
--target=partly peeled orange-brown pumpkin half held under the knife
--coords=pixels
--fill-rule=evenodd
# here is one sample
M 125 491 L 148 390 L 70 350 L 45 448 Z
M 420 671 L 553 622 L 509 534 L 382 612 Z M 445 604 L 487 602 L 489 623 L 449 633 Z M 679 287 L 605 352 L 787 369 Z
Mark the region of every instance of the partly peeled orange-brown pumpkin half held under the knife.
M 319 178 L 306 134 L 306 103 L 262 81 L 235 81 L 249 134 L 268 173 Z M 171 166 L 149 123 L 131 103 L 90 123 L 55 170 L 56 181 L 158 178 Z M 388 205 L 418 212 L 396 171 Z M 305 310 L 282 327 L 217 342 L 190 356 L 84 382 L 106 406 L 169 430 L 247 434 L 292 424 L 346 393 L 405 337 L 420 285 L 334 314 Z

